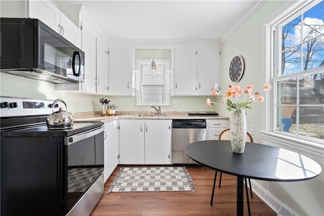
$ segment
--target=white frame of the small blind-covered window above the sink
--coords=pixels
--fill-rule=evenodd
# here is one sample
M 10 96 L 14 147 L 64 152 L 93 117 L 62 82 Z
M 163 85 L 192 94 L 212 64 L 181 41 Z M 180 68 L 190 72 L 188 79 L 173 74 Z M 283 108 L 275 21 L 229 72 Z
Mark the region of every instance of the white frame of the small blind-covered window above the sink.
M 137 76 L 136 76 L 136 105 L 137 106 L 151 106 L 153 104 L 147 104 L 142 103 L 142 83 L 141 83 L 141 67 L 143 65 L 150 65 L 152 62 L 152 59 L 136 59 L 136 70 L 137 70 Z M 156 66 L 163 65 L 166 68 L 165 71 L 165 102 L 164 103 L 154 103 L 154 105 L 160 105 L 160 106 L 170 106 L 170 98 L 171 98 L 171 89 L 172 89 L 172 70 L 171 70 L 171 61 L 169 59 L 154 59 L 154 62 Z

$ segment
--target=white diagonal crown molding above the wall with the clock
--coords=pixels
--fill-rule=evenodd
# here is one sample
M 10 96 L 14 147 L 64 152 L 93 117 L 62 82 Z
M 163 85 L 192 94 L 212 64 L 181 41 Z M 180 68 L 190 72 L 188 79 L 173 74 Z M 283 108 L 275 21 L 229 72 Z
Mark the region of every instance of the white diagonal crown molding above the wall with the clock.
M 241 27 L 252 15 L 257 12 L 265 3 L 267 0 L 259 0 L 256 2 L 256 4 L 247 11 L 237 22 L 224 34 L 224 36 L 221 38 L 221 43 L 224 44 L 229 37 L 239 28 Z

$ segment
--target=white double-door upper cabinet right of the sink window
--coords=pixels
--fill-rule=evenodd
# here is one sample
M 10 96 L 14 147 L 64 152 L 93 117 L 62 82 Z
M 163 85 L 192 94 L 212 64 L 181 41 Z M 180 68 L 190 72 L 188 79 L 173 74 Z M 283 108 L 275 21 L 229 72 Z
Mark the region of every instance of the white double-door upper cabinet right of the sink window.
M 219 84 L 219 46 L 175 48 L 174 95 L 210 95 Z

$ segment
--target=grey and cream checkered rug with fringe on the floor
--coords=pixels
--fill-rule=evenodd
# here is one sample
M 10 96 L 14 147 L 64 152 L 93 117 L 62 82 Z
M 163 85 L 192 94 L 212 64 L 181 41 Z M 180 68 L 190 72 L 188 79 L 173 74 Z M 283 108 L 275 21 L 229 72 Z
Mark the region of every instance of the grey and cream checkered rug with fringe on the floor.
M 110 192 L 190 191 L 194 184 L 186 167 L 122 167 Z

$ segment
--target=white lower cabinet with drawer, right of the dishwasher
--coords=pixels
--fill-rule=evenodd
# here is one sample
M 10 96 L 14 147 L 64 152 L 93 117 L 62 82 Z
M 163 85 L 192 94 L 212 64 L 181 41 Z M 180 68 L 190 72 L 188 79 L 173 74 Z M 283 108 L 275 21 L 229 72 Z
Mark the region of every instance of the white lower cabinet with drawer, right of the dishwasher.
M 221 132 L 229 128 L 228 119 L 207 119 L 207 140 L 218 139 Z

